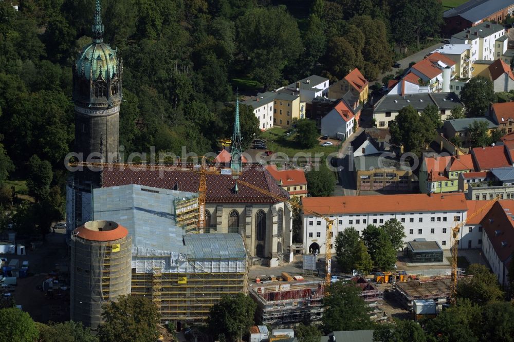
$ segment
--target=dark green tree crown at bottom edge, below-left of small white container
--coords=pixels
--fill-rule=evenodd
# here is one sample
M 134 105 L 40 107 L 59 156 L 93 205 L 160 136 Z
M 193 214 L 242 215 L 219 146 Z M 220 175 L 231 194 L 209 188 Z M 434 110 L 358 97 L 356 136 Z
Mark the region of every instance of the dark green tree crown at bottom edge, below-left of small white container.
M 377 325 L 373 333 L 373 340 L 375 342 L 426 342 L 427 335 L 415 321 L 395 319 L 394 324 Z

